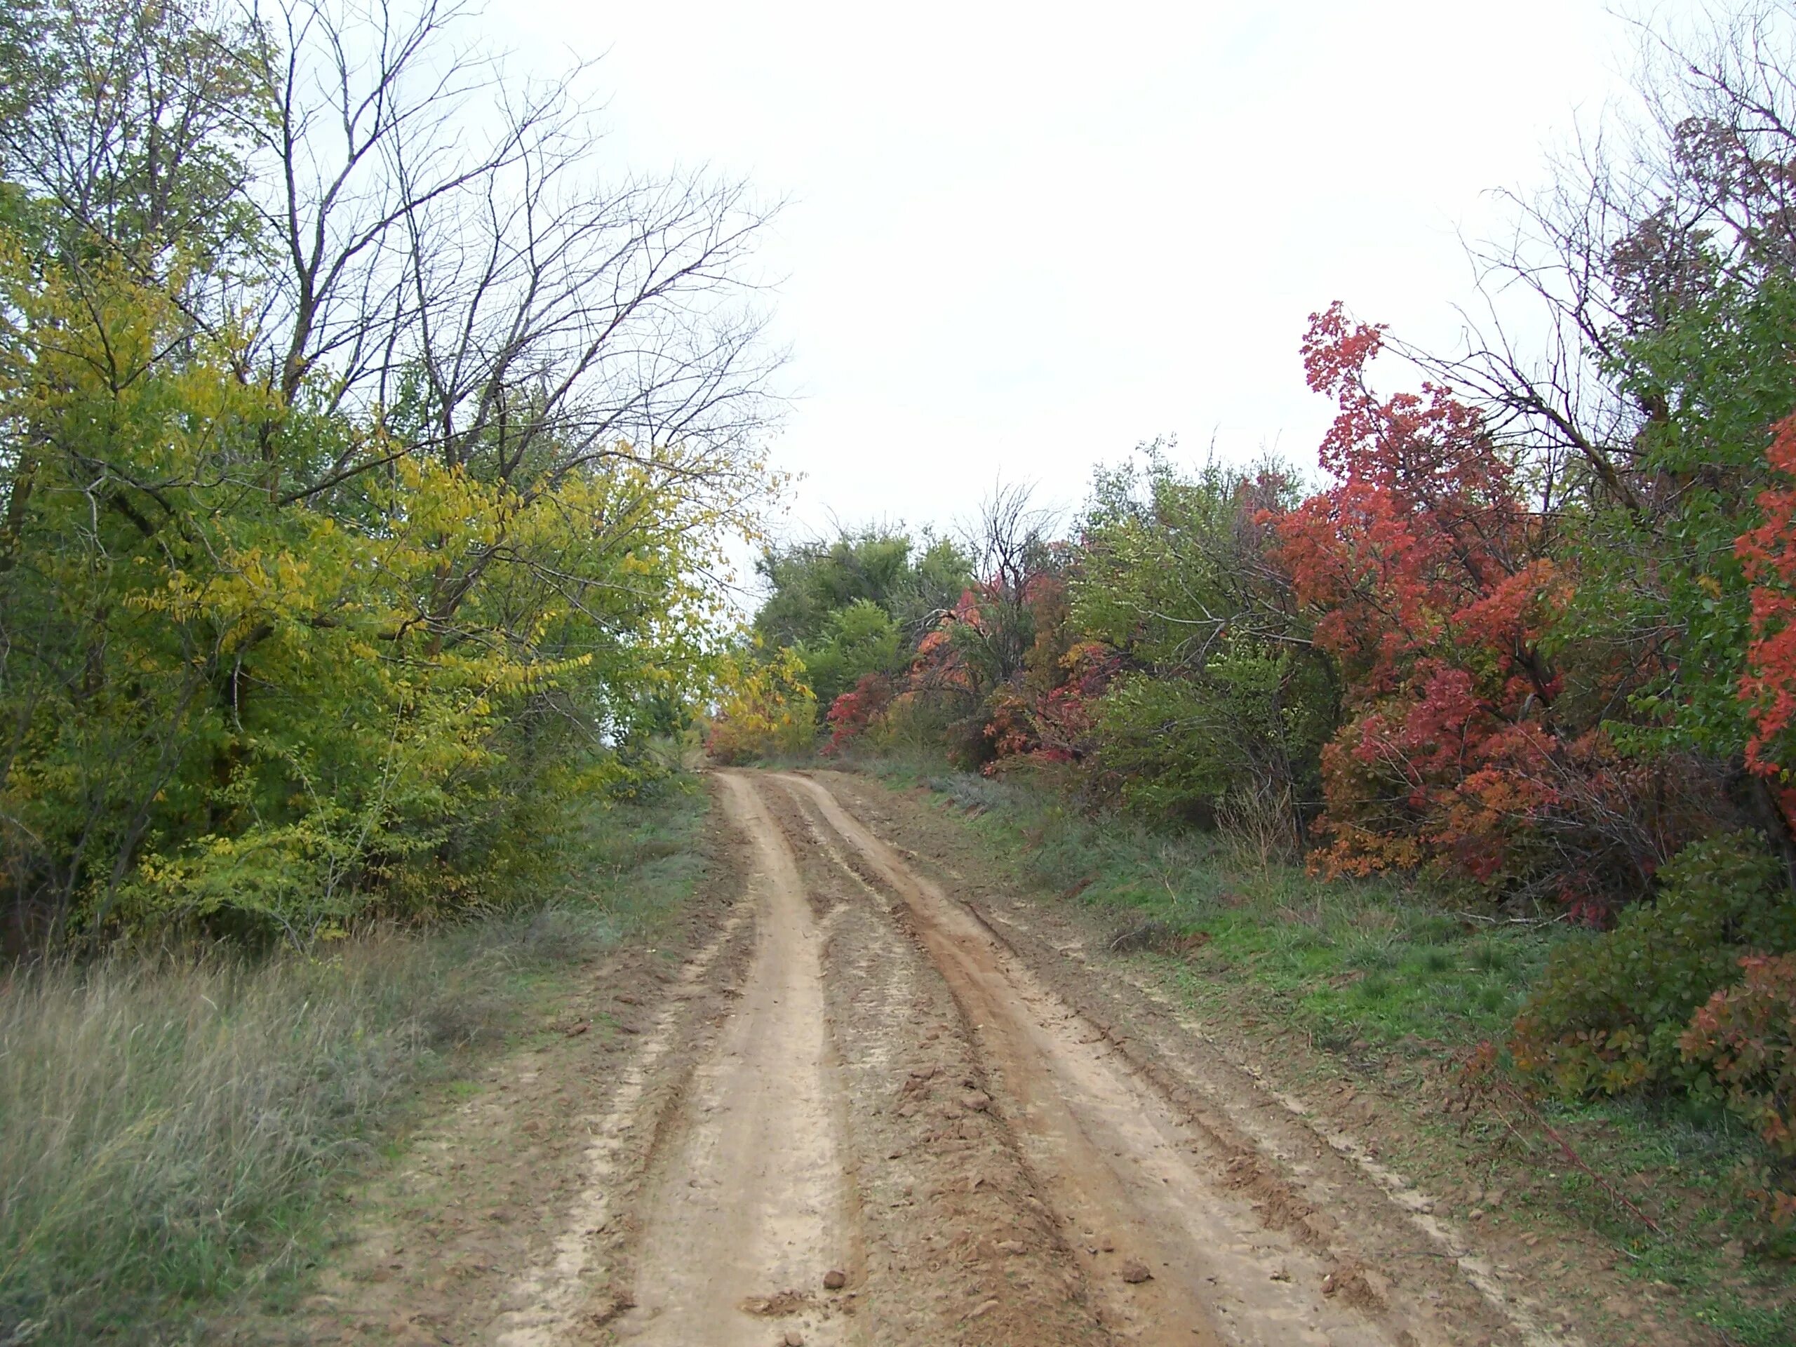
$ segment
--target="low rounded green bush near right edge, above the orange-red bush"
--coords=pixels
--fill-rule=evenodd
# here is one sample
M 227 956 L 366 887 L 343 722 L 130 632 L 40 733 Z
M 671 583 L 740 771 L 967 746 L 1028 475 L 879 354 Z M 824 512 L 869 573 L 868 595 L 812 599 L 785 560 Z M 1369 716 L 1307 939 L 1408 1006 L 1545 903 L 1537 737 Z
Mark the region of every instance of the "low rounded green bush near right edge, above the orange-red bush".
M 1554 954 L 1516 1018 L 1516 1065 L 1568 1096 L 1620 1094 L 1685 1072 L 1697 1006 L 1740 981 L 1749 954 L 1796 950 L 1796 896 L 1751 833 L 1683 848 L 1660 898 L 1615 930 Z

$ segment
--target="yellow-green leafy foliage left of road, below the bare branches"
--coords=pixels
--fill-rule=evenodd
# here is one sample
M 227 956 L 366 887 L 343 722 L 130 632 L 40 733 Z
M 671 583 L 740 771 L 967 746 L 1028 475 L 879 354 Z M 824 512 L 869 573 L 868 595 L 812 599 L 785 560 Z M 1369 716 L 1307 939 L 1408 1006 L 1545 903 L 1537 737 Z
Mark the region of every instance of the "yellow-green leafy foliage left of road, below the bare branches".
M 679 451 L 501 483 L 388 442 L 334 508 L 269 499 L 383 429 L 284 415 L 230 332 L 169 357 L 180 307 L 117 269 L 0 280 L 0 409 L 36 444 L 0 571 L 16 900 L 296 938 L 375 894 L 462 907 L 506 817 L 648 769 L 580 720 L 625 738 L 702 690 L 713 515 Z

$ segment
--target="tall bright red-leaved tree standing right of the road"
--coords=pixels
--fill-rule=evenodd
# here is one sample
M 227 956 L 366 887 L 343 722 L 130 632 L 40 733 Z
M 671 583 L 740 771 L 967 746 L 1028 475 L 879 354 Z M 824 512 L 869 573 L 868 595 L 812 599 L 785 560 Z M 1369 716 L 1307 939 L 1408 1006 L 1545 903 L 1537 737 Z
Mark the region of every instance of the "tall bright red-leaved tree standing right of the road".
M 1579 817 L 1600 812 L 1609 754 L 1554 724 L 1561 677 L 1543 641 L 1566 577 L 1546 521 L 1476 408 L 1435 384 L 1372 392 L 1381 345 L 1383 329 L 1340 304 L 1311 318 L 1304 368 L 1336 404 L 1320 454 L 1336 483 L 1275 521 L 1279 560 L 1345 688 L 1316 862 L 1545 880 L 1600 903 L 1613 876 Z

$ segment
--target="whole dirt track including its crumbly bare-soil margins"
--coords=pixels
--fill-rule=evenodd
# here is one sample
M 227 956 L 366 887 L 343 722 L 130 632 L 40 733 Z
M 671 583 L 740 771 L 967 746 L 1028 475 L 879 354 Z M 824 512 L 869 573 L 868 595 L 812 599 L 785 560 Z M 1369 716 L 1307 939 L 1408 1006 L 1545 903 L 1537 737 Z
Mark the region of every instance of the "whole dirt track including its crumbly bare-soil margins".
M 339 1277 L 316 1300 L 345 1340 L 1577 1342 L 1351 1139 L 1139 990 L 1101 1000 L 1027 903 L 988 923 L 939 887 L 871 794 L 722 772 L 718 796 L 740 875 L 675 970 L 594 990 L 625 1033 L 501 1070 L 510 1110 L 465 1110 L 433 1144 L 467 1158 L 433 1173 L 462 1193 L 585 1097 L 578 1157 L 506 1173 L 503 1234 L 454 1221 L 417 1266 Z M 420 1243 L 361 1237 L 368 1264 Z

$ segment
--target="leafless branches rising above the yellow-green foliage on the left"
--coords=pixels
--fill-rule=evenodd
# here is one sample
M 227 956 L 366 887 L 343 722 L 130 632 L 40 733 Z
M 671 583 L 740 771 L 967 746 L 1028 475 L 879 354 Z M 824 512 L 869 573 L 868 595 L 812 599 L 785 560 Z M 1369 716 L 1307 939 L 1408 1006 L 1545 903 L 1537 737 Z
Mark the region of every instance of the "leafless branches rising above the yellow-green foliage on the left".
M 749 262 L 769 212 L 708 174 L 600 178 L 585 68 L 515 81 L 471 11 L 251 11 L 275 110 L 257 205 L 278 277 L 262 377 L 379 406 L 413 447 L 512 481 L 611 456 L 729 476 L 776 411 Z M 650 453 L 679 444 L 677 463 Z M 304 499 L 377 467 L 348 451 Z

